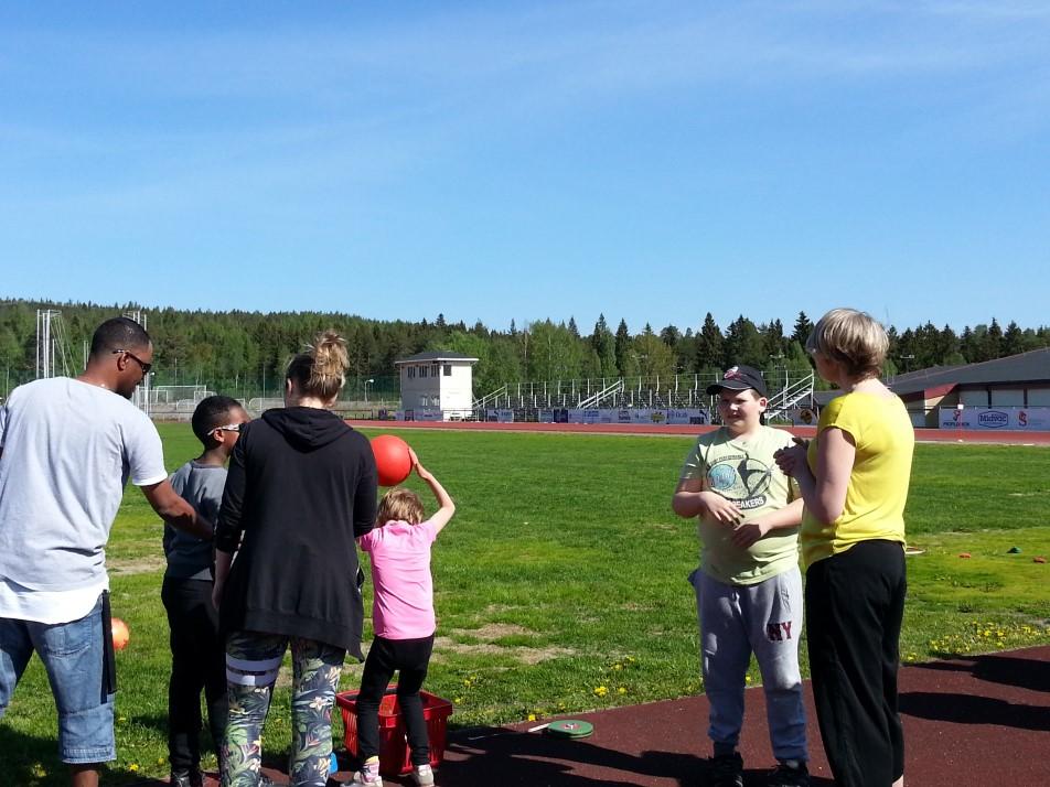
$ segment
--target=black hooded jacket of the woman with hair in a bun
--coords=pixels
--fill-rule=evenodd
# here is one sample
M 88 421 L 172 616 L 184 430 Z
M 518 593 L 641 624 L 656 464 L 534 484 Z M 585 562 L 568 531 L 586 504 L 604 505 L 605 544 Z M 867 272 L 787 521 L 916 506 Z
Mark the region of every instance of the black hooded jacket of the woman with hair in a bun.
M 237 553 L 223 630 L 303 637 L 362 658 L 354 539 L 375 513 L 372 448 L 338 416 L 288 407 L 243 428 L 215 529 L 216 548 Z

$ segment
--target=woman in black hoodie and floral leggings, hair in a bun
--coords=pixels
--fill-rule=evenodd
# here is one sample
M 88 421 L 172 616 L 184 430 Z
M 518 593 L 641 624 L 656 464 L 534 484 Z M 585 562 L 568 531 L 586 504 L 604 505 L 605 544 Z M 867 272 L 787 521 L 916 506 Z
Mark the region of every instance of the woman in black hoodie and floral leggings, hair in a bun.
M 226 635 L 223 785 L 259 783 L 262 722 L 292 651 L 293 785 L 324 785 L 346 653 L 361 659 L 354 539 L 375 522 L 366 438 L 328 408 L 347 367 L 334 332 L 288 365 L 285 407 L 242 427 L 215 530 L 214 601 Z M 236 552 L 236 561 L 234 553 Z

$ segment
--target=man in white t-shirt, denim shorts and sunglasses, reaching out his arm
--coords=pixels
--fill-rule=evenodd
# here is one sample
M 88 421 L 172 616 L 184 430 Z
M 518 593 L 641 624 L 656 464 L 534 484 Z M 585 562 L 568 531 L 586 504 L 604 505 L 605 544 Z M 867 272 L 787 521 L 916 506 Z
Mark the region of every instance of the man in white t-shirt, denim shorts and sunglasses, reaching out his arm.
M 0 718 L 35 651 L 74 787 L 95 787 L 99 764 L 116 758 L 106 542 L 128 478 L 167 522 L 212 536 L 171 488 L 156 427 L 128 401 L 152 360 L 141 325 L 107 320 L 84 374 L 20 386 L 0 408 Z

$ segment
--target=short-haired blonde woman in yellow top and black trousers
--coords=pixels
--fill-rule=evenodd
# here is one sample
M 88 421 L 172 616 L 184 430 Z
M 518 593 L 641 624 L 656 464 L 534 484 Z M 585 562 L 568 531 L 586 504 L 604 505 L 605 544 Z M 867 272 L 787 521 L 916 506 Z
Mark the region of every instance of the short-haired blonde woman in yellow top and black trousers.
M 888 346 L 868 314 L 834 309 L 821 317 L 806 349 L 843 395 L 821 412 L 815 440 L 776 455 L 805 502 L 810 670 L 839 787 L 904 783 L 897 670 L 915 436 L 903 403 L 878 379 Z

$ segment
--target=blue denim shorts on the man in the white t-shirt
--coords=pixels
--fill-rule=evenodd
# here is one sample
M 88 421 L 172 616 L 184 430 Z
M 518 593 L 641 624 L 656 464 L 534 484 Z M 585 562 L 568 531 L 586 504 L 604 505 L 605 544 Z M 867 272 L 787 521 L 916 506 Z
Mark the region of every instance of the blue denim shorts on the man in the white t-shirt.
M 114 696 L 106 692 L 103 604 L 69 623 L 34 623 L 0 617 L 0 718 L 33 651 L 47 670 L 58 709 L 58 754 L 72 765 L 117 758 Z

